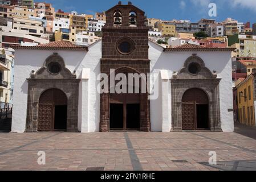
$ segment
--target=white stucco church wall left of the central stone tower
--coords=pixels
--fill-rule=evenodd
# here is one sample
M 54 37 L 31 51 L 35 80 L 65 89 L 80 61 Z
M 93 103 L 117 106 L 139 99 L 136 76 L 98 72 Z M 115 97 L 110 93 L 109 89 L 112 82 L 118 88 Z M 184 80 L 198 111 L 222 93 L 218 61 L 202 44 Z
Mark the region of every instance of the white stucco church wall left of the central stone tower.
M 23 133 L 26 127 L 27 115 L 27 78 L 32 70 L 38 71 L 54 52 L 63 57 L 66 68 L 81 77 L 83 68 L 90 68 L 90 98 L 88 110 L 88 131 L 99 131 L 100 94 L 96 92 L 96 76 L 100 73 L 101 41 L 92 44 L 90 51 L 44 51 L 16 50 L 14 67 L 14 107 L 12 131 Z M 80 83 L 81 84 L 81 83 Z M 80 100 L 80 98 L 79 98 Z M 83 112 L 83 111 L 82 111 Z

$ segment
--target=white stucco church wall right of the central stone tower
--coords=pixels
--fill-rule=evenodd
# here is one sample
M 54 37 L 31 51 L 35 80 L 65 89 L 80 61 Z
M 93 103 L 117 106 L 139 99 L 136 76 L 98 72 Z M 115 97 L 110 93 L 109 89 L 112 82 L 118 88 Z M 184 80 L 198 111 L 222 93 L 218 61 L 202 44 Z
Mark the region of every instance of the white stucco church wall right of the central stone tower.
M 234 130 L 233 112 L 227 109 L 233 108 L 232 96 L 232 75 L 231 75 L 231 52 L 162 52 L 161 47 L 155 43 L 149 42 L 149 59 L 151 60 L 151 72 L 159 73 L 166 70 L 169 78 L 173 72 L 178 72 L 184 65 L 186 59 L 196 53 L 197 56 L 204 60 L 205 66 L 210 71 L 217 71 L 220 82 L 220 107 L 221 107 L 221 126 L 225 132 Z M 169 98 L 166 98 L 168 100 Z M 170 101 L 171 102 L 171 101 Z M 159 130 L 161 117 L 159 115 L 160 102 L 151 101 L 151 122 L 152 130 Z M 169 113 L 171 108 L 169 107 Z M 172 116 L 170 115 L 170 120 Z

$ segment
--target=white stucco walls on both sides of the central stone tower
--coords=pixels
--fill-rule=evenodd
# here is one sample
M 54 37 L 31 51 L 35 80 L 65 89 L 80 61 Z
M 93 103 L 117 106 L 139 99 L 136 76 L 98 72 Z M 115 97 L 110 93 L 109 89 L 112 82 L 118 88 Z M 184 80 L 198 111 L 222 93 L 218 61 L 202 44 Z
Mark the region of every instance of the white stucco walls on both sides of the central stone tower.
M 97 93 L 96 80 L 100 73 L 101 41 L 92 44 L 88 52 L 84 51 L 43 51 L 17 50 L 15 52 L 14 67 L 14 107 L 12 131 L 23 133 L 27 115 L 27 80 L 32 70 L 38 71 L 48 56 L 57 52 L 63 57 L 66 67 L 71 72 L 76 71 L 78 78 L 83 78 L 82 70 L 90 69 L 90 74 L 79 85 L 78 126 L 82 132 L 99 131 L 100 122 L 100 94 Z M 170 79 L 173 72 L 178 72 L 184 62 L 193 53 L 204 60 L 210 71 L 217 71 L 220 82 L 221 123 L 223 131 L 233 131 L 232 80 L 231 80 L 231 52 L 162 52 L 162 47 L 149 42 L 149 59 L 151 73 L 156 73 L 155 80 L 159 80 L 159 97 L 151 100 L 151 129 L 152 131 L 168 132 L 172 122 Z M 29 55 L 29 56 L 28 56 Z M 164 74 L 160 74 L 160 72 Z M 164 77 L 163 77 L 164 75 Z M 153 83 L 153 82 L 152 82 Z

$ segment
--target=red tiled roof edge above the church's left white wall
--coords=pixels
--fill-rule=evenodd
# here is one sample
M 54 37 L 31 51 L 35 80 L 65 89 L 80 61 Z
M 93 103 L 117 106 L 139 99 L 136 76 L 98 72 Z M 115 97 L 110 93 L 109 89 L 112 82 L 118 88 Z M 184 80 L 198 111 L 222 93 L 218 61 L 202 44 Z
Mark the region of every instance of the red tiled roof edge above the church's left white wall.
M 38 46 L 13 46 L 14 49 L 35 49 L 35 50 L 72 50 L 88 51 L 88 47 L 78 46 L 68 41 L 55 41 Z

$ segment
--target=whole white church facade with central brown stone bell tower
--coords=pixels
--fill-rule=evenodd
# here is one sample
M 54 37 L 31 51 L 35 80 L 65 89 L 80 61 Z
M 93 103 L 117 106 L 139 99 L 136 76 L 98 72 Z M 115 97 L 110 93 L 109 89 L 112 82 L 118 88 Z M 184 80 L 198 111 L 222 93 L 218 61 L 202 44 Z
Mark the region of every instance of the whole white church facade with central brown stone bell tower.
M 13 132 L 234 130 L 233 48 L 162 48 L 148 40 L 145 13 L 130 2 L 106 16 L 103 39 L 89 47 L 14 47 Z M 146 77 L 135 86 L 124 78 L 131 74 Z M 113 90 L 112 76 L 114 86 L 125 80 L 119 88 L 137 92 Z

